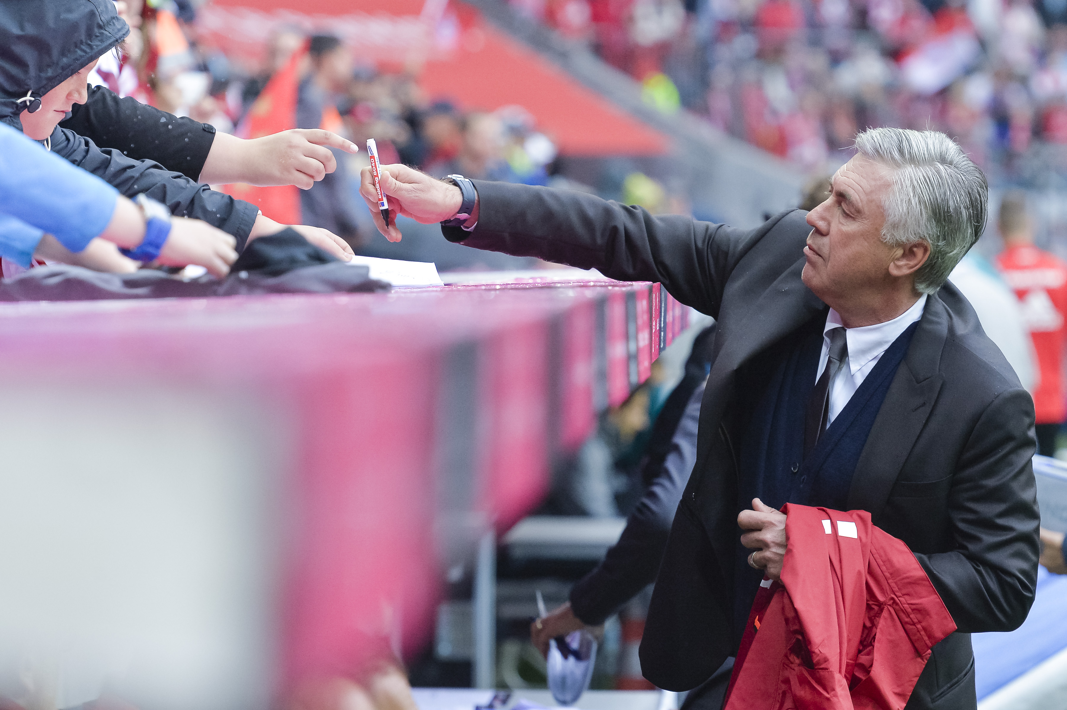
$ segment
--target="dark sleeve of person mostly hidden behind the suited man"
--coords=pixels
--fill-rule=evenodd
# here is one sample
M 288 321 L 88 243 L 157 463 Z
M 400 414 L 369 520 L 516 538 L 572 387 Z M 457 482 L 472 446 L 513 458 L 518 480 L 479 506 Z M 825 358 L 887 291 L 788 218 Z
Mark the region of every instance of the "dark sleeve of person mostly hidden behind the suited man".
M 698 386 L 671 438 L 670 452 L 659 474 L 626 519 L 619 542 L 604 561 L 571 590 L 571 611 L 590 626 L 598 626 L 651 584 L 674 521 L 674 511 L 697 462 L 697 423 L 704 384 Z

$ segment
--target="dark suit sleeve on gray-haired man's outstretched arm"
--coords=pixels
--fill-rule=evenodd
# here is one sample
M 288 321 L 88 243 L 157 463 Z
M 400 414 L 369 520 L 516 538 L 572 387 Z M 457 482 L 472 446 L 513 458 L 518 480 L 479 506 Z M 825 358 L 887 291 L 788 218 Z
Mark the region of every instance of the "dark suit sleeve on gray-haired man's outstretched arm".
M 658 281 L 672 296 L 718 318 L 730 273 L 777 220 L 753 231 L 653 215 L 572 190 L 475 180 L 478 224 L 443 227 L 467 246 L 598 269 L 624 281 Z

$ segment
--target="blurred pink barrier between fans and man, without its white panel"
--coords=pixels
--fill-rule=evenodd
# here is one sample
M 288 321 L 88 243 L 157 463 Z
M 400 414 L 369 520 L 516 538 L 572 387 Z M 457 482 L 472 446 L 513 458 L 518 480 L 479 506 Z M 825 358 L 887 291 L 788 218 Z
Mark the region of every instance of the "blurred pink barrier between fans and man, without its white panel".
M 0 306 L 0 378 L 253 403 L 287 452 L 261 482 L 281 501 L 262 634 L 285 693 L 424 644 L 443 513 L 517 521 L 686 322 L 659 285 L 615 281 L 25 303 Z

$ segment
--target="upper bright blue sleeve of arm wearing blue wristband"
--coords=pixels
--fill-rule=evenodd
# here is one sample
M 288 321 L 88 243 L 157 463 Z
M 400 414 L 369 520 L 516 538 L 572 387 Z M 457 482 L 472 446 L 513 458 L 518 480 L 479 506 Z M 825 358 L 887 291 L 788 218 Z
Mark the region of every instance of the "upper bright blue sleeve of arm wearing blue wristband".
M 117 197 L 118 191 L 100 178 L 0 125 L 0 214 L 81 252 L 111 222 Z

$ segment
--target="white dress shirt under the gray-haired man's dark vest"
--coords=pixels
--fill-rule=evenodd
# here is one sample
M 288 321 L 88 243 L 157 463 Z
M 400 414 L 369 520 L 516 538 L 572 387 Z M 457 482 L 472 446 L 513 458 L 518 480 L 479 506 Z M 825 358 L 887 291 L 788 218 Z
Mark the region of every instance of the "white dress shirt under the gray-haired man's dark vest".
M 845 359 L 845 367 L 838 372 L 838 376 L 830 385 L 830 412 L 827 415 L 826 424 L 830 425 L 841 410 L 853 399 L 853 394 L 863 384 L 866 376 L 878 364 L 881 354 L 893 344 L 902 333 L 909 325 L 923 317 L 923 308 L 926 307 L 926 294 L 919 297 L 911 308 L 897 316 L 891 321 L 876 323 L 875 325 L 864 325 L 859 328 L 846 328 L 845 340 L 848 342 L 848 357 Z M 823 370 L 826 369 L 826 360 L 830 352 L 830 330 L 844 327 L 841 324 L 841 316 L 834 309 L 826 317 L 826 325 L 823 327 L 823 353 L 818 356 L 818 370 L 815 372 L 815 382 L 818 382 Z

